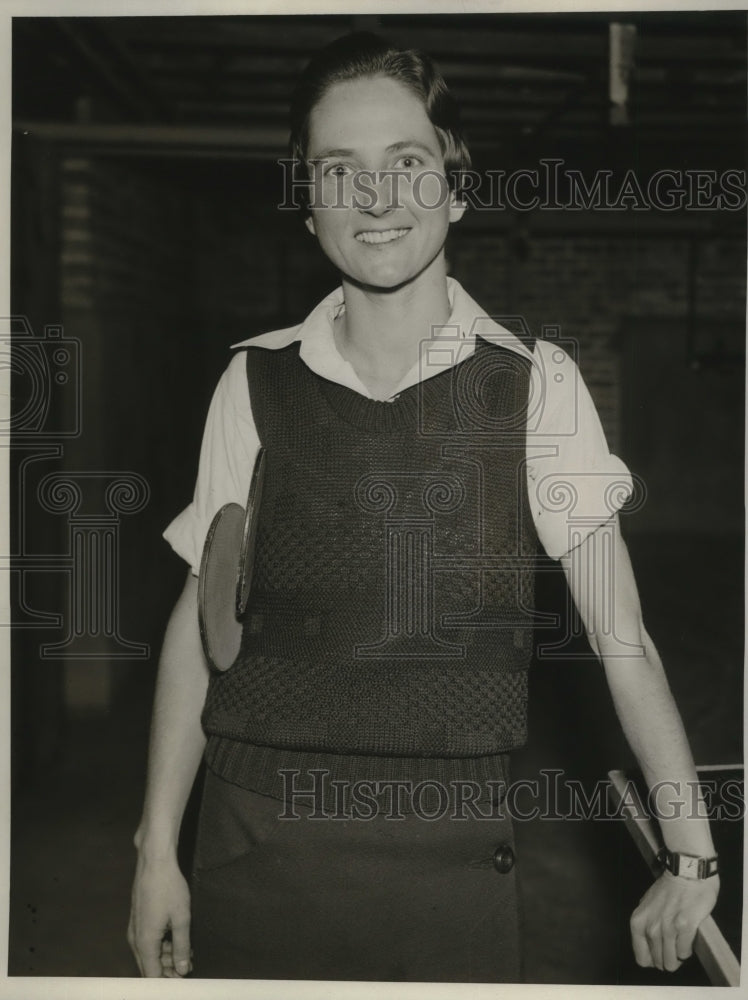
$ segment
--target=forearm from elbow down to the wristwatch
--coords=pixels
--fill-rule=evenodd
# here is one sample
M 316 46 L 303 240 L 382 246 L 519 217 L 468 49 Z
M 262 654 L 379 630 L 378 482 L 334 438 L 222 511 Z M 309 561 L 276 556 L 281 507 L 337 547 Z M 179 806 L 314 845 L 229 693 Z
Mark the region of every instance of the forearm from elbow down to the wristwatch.
M 643 626 L 640 635 L 641 655 L 601 650 L 616 712 L 650 789 L 666 845 L 672 851 L 711 856 L 714 844 L 683 722 Z

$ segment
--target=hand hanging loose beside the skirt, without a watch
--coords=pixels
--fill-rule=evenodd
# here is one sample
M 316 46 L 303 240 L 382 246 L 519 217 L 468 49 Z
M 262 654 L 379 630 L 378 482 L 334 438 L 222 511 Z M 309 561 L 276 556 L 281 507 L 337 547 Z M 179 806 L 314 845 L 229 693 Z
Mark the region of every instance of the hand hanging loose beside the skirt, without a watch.
M 138 857 L 127 940 L 141 976 L 174 979 L 192 971 L 190 891 L 176 859 Z

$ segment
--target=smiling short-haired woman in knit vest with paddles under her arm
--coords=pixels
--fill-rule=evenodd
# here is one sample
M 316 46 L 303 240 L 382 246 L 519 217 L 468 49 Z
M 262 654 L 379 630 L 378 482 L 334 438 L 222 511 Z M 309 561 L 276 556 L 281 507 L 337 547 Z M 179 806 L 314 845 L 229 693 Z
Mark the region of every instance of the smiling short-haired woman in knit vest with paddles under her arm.
M 493 323 L 447 275 L 470 161 L 426 57 L 370 34 L 333 43 L 300 81 L 292 148 L 307 228 L 342 284 L 299 326 L 239 345 L 195 499 L 166 533 L 191 569 L 159 666 L 130 943 L 148 976 L 186 974 L 192 946 L 199 976 L 518 981 L 501 806 L 526 739 L 538 540 L 562 562 L 645 778 L 670 783 L 663 810 L 695 780 L 601 500 L 630 480 L 571 360 Z M 543 382 L 552 364 L 561 377 Z M 576 396 L 558 388 L 572 383 Z M 580 430 L 562 441 L 572 398 Z M 200 551 L 221 505 L 245 502 L 261 445 L 242 646 L 210 672 Z M 574 477 L 593 515 L 576 534 L 540 489 Z M 204 752 L 188 888 L 176 843 Z M 708 859 L 706 878 L 665 871 L 632 918 L 637 961 L 674 970 L 719 878 L 705 820 L 663 834 L 687 874 Z

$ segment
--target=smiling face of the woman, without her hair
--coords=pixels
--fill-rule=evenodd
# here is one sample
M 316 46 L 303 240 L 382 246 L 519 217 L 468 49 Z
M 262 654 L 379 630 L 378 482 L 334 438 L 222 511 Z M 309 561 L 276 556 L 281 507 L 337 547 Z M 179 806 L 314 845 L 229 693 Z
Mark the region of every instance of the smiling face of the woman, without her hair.
M 393 289 L 445 268 L 444 241 L 464 207 L 407 87 L 385 76 L 334 84 L 312 110 L 307 160 L 319 162 L 306 224 L 344 277 Z

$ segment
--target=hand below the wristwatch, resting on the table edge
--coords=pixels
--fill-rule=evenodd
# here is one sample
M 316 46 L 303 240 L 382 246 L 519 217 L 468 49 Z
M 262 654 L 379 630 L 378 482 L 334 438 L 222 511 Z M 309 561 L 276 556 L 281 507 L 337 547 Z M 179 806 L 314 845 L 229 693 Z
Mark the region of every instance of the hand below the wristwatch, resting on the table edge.
M 696 880 L 665 871 L 650 886 L 631 917 L 638 965 L 675 972 L 693 952 L 693 939 L 719 893 L 719 876 Z

